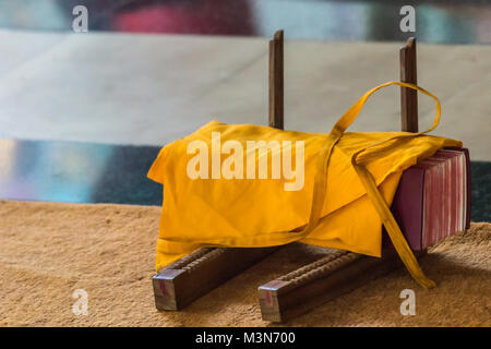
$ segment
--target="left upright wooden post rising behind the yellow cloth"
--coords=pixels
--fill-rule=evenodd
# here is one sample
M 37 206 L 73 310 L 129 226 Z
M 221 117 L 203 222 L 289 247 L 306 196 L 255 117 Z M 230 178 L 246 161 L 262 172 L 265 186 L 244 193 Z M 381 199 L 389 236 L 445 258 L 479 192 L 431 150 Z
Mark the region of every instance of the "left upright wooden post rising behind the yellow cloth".
M 284 129 L 283 31 L 270 40 L 270 127 Z

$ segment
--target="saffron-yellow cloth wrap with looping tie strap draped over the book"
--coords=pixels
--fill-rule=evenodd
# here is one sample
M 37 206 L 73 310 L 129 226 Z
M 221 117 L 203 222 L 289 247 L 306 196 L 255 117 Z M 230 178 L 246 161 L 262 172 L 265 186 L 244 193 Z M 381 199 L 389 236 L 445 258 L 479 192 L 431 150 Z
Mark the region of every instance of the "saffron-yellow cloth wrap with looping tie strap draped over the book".
M 432 97 L 436 103 L 433 125 L 419 133 L 345 132 L 370 95 L 388 85 Z M 149 179 L 164 184 L 156 269 L 203 246 L 259 248 L 294 241 L 380 257 L 383 224 L 411 276 L 424 288 L 433 287 L 388 207 L 405 169 L 443 147 L 462 147 L 459 141 L 426 135 L 438 125 L 440 113 L 440 101 L 431 93 L 412 84 L 388 82 L 366 93 L 328 134 L 212 121 L 164 146 L 148 171 Z M 268 149 L 266 179 L 191 179 L 187 168 L 196 155 L 188 154 L 188 146 L 200 140 L 208 149 L 216 147 L 212 132 L 220 133 L 221 143 L 238 141 L 243 149 L 247 141 L 291 141 L 287 151 L 292 159 L 294 144 L 303 141 L 303 186 L 286 191 L 284 184 L 291 180 L 272 179 L 273 155 L 286 147 Z M 227 157 L 221 155 L 220 165 Z M 255 169 L 260 160 L 255 158 Z

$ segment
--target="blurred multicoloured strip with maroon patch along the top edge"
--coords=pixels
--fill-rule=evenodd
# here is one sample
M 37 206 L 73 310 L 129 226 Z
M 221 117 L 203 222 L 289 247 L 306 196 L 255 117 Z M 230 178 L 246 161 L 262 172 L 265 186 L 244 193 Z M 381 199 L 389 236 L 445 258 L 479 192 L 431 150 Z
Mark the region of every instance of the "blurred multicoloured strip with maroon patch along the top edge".
M 417 37 L 427 43 L 490 44 L 484 0 L 2 0 L 0 26 L 70 31 L 72 9 L 91 12 L 91 31 L 268 37 L 402 40 L 399 9 L 418 9 Z

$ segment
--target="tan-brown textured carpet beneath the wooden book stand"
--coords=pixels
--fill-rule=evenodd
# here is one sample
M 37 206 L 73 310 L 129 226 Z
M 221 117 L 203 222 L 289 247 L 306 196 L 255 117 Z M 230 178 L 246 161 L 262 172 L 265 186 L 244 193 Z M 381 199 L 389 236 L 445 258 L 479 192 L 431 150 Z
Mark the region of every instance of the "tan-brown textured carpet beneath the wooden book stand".
M 154 308 L 151 277 L 159 207 L 0 201 L 2 326 L 265 326 L 256 287 L 319 255 L 292 244 L 189 305 Z M 472 224 L 422 260 L 439 286 L 400 269 L 304 314 L 294 326 L 490 326 L 490 224 Z M 416 292 L 416 315 L 399 292 Z M 88 293 L 75 316 L 72 292 Z

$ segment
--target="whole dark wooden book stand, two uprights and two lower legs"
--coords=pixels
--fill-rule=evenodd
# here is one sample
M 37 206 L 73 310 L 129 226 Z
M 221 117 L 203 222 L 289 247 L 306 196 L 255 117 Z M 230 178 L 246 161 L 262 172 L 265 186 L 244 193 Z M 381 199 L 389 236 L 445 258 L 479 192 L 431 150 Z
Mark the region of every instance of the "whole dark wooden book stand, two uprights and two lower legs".
M 400 81 L 417 83 L 416 39 L 400 49 Z M 417 92 L 402 94 L 402 129 L 418 131 Z M 284 129 L 284 33 L 270 40 L 270 127 Z M 176 311 L 240 274 L 280 246 L 261 249 L 207 248 L 161 268 L 153 277 L 155 305 Z M 394 252 L 382 258 L 337 251 L 259 287 L 263 320 L 285 322 L 328 300 L 350 292 L 403 264 Z

